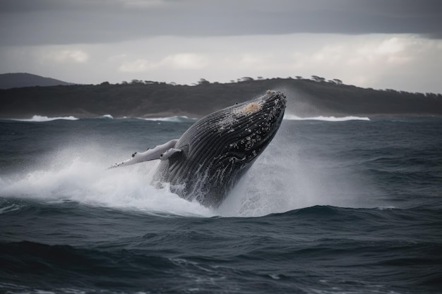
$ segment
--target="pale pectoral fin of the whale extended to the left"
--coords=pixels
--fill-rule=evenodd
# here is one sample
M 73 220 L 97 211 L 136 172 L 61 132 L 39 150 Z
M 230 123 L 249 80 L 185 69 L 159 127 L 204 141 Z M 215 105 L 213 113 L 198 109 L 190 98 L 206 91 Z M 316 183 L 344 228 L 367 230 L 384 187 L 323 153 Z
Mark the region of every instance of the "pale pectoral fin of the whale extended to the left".
M 178 140 L 170 140 L 169 142 L 158 145 L 153 149 L 148 149 L 145 152 L 135 152 L 132 154 L 132 157 L 120 162 L 119 164 L 113 164 L 109 169 L 113 169 L 119 166 L 129 166 L 131 164 L 138 164 L 139 162 L 155 160 L 155 159 L 163 159 L 164 156 L 166 158 L 170 157 L 170 155 L 175 152 L 181 152 L 180 149 L 175 149 L 175 144 L 177 144 Z

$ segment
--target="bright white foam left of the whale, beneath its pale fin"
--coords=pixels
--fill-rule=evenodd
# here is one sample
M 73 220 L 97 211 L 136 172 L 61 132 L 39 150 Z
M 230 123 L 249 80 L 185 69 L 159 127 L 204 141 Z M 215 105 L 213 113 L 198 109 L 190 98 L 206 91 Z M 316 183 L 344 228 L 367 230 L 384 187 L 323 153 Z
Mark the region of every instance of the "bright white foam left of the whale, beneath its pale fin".
M 88 148 L 86 148 L 88 149 Z M 93 149 L 93 148 L 92 148 Z M 71 150 L 54 155 L 49 166 L 0 178 L 0 197 L 20 197 L 133 209 L 148 214 L 213 216 L 215 213 L 196 202 L 189 202 L 165 188 L 150 185 L 157 161 L 107 169 L 111 161 L 100 158 L 100 150 L 87 150 L 80 157 Z M 95 156 L 97 155 L 97 156 Z M 95 159 L 94 159 L 95 158 Z

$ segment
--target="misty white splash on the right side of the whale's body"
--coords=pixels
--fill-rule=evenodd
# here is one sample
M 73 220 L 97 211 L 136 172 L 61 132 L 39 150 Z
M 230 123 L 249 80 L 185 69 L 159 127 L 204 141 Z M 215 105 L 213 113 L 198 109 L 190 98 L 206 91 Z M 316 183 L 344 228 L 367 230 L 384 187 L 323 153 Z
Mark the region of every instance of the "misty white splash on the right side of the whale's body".
M 333 159 L 306 155 L 282 128 L 261 157 L 222 203 L 222 216 L 256 217 L 330 205 L 377 207 L 368 200 L 373 187 L 361 173 Z M 373 200 L 376 201 L 376 200 Z

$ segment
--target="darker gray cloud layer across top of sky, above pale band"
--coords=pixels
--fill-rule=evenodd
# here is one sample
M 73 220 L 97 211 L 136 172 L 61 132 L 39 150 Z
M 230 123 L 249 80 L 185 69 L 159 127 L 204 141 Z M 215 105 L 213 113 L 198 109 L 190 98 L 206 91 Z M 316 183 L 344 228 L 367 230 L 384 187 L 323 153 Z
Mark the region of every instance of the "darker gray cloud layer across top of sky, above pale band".
M 297 32 L 415 33 L 440 38 L 441 6 L 438 0 L 4 0 L 0 44 Z

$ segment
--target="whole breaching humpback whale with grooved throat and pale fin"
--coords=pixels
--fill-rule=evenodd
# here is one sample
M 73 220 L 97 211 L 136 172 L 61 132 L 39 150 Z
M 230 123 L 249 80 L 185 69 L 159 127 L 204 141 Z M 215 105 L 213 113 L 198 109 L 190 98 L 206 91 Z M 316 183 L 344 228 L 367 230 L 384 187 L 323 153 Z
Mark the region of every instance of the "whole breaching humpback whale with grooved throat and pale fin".
M 268 90 L 246 102 L 208 114 L 179 139 L 134 152 L 112 169 L 160 160 L 152 184 L 189 201 L 217 208 L 275 137 L 287 98 Z

